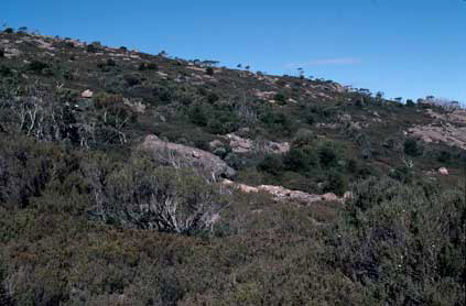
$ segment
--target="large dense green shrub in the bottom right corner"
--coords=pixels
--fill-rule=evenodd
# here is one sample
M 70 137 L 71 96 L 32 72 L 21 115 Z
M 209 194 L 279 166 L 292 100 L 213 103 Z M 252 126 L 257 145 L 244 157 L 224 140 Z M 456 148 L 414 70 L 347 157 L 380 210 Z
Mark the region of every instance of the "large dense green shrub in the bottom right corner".
M 459 190 L 361 182 L 332 230 L 336 263 L 366 304 L 460 305 L 465 216 Z

